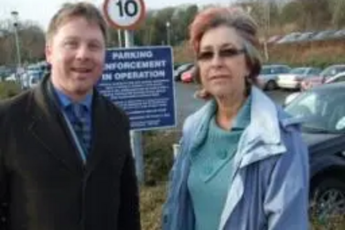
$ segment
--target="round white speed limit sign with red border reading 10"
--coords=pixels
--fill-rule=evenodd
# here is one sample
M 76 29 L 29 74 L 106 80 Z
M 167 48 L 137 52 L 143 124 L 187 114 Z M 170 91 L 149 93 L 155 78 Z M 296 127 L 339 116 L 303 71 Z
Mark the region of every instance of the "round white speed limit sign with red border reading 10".
M 106 0 L 103 13 L 110 26 L 132 30 L 144 19 L 144 0 Z

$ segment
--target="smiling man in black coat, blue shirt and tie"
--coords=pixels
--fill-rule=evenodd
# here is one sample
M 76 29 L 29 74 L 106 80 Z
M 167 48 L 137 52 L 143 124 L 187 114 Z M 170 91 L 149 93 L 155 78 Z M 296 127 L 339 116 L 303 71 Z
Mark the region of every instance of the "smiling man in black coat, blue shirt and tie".
M 0 229 L 140 229 L 128 117 L 94 88 L 105 40 L 95 6 L 63 5 L 46 37 L 50 75 L 0 103 Z

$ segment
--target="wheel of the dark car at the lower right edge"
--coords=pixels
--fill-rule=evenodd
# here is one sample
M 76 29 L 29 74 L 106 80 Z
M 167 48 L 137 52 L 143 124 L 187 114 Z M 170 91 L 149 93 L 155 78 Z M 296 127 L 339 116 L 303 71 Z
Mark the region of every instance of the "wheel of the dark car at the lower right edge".
M 345 214 L 345 182 L 335 178 L 322 178 L 311 193 L 311 214 L 325 220 Z

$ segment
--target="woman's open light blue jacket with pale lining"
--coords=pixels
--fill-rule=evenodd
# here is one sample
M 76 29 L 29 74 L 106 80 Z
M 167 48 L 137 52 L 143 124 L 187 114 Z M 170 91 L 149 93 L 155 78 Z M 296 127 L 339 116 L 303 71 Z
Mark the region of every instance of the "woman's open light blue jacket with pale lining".
M 251 100 L 250 124 L 239 140 L 235 175 L 218 230 L 306 230 L 309 165 L 299 122 L 256 87 L 252 88 Z M 184 123 L 164 204 L 164 230 L 195 230 L 187 187 L 188 153 L 203 141 L 206 121 L 213 113 L 212 103 Z

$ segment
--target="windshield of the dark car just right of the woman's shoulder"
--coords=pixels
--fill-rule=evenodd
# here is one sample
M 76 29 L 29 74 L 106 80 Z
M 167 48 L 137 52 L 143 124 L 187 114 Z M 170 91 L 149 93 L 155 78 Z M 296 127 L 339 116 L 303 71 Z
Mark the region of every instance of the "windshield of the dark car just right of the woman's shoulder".
M 286 106 L 285 111 L 304 121 L 307 133 L 345 133 L 345 87 L 315 88 Z

